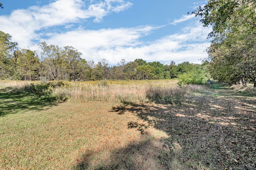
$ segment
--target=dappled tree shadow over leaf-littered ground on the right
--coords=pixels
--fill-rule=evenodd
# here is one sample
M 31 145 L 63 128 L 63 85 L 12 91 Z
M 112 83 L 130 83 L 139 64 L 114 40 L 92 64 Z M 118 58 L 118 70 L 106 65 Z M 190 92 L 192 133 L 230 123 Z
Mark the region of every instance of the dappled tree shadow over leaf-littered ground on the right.
M 193 96 L 179 106 L 124 102 L 112 111 L 133 113 L 143 120 L 127 125 L 142 134 L 149 127 L 167 133 L 166 145 L 173 146 L 175 141 L 182 148 L 179 153 L 168 153 L 180 169 L 255 169 L 255 98 L 224 86 L 213 90 L 218 96 Z

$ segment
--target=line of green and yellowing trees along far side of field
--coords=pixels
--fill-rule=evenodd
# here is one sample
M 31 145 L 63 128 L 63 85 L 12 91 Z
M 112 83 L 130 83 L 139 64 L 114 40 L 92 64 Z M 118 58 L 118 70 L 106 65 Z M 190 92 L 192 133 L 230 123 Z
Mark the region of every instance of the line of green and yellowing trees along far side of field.
M 120 60 L 110 66 L 106 59 L 95 63 L 82 59 L 82 53 L 72 46 L 58 47 L 46 42 L 38 51 L 20 49 L 12 36 L 0 31 L 0 79 L 11 80 L 142 80 L 177 78 L 186 72 L 201 72 L 202 65 L 184 62 L 162 64 Z M 199 70 L 199 71 L 198 71 Z M 201 70 L 201 71 L 200 71 Z M 196 73 L 197 74 L 197 73 Z

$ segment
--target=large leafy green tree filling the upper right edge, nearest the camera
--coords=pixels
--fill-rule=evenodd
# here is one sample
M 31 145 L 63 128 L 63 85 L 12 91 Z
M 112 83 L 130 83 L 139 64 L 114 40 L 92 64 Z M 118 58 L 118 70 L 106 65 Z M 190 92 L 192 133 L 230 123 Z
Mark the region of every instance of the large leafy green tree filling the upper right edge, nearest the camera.
M 212 26 L 208 37 L 209 70 L 214 78 L 256 88 L 256 3 L 255 0 L 209 0 L 194 12 L 204 27 Z

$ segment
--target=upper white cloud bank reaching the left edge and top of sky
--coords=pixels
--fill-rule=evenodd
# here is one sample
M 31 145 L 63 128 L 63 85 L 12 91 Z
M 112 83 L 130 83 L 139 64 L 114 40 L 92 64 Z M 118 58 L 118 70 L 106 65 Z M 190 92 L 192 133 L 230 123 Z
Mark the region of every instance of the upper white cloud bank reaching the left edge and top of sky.
M 82 0 L 56 0 L 48 5 L 31 6 L 28 9 L 14 10 L 10 16 L 0 16 L 0 30 L 13 36 L 13 40 L 26 46 L 38 40 L 36 31 L 58 25 L 70 25 L 81 20 L 94 18 L 100 22 L 111 12 L 130 8 L 132 3 L 124 0 L 105 0 L 86 4 Z

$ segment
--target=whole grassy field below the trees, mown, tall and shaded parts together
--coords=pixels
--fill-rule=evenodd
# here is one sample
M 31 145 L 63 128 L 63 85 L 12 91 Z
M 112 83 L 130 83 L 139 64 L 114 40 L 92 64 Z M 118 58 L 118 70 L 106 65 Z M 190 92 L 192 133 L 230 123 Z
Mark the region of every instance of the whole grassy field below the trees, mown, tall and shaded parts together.
M 0 169 L 256 169 L 253 95 L 176 80 L 30 83 L 0 82 Z

